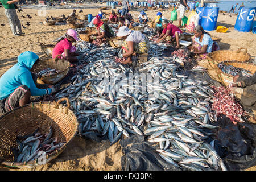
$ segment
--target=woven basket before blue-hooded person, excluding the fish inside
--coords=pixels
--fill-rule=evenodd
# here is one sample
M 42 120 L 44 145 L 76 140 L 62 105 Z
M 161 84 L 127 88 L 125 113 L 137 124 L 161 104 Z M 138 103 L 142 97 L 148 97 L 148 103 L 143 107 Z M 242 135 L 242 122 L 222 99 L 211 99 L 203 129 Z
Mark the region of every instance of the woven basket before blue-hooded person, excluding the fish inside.
M 57 58 L 59 56 L 61 57 L 61 59 Z M 31 70 L 31 72 L 39 73 L 46 68 L 59 69 L 61 71 L 60 73 L 56 73 L 55 75 L 38 77 L 37 80 L 39 84 L 56 84 L 68 74 L 69 67 L 69 61 L 63 59 L 62 55 L 57 55 L 55 59 L 47 58 L 40 60 L 38 65 L 36 65 L 35 69 Z

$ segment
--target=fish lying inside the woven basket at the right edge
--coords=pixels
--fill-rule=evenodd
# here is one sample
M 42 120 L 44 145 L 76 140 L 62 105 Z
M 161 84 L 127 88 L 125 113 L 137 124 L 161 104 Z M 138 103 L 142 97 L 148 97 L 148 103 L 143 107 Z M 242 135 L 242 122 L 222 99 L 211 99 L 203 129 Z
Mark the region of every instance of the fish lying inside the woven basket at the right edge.
M 219 63 L 218 68 L 220 68 L 222 72 L 227 73 L 232 76 L 242 74 L 243 76 L 251 77 L 250 71 L 243 69 L 243 68 L 236 68 L 236 67 L 233 67 L 232 65 L 228 65 L 228 64 L 224 64 L 224 63 Z

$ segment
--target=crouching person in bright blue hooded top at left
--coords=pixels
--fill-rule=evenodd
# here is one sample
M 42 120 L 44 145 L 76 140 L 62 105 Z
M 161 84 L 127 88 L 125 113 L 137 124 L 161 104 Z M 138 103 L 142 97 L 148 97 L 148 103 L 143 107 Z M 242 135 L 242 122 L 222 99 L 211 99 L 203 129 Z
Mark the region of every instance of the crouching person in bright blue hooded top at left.
M 18 56 L 18 63 L 0 78 L 0 114 L 30 102 L 30 96 L 46 96 L 57 91 L 57 87 L 38 89 L 31 70 L 39 63 L 39 56 L 26 51 Z

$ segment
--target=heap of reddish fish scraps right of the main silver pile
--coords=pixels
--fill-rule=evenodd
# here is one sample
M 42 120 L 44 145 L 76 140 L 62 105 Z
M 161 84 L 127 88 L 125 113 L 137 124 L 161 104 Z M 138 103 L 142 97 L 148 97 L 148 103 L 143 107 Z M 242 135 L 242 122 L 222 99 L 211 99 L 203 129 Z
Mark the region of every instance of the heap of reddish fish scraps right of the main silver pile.
M 216 118 L 219 114 L 225 114 L 234 124 L 245 122 L 241 118 L 243 115 L 242 106 L 230 95 L 231 88 L 213 87 L 215 90 L 212 110 L 216 112 Z

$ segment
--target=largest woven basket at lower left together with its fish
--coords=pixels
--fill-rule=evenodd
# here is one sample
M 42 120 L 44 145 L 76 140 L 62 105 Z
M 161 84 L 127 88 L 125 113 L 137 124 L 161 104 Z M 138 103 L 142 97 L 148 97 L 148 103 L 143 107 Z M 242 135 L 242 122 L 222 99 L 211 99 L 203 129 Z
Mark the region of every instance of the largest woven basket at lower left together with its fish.
M 1 115 L 1 164 L 35 167 L 57 158 L 77 133 L 77 118 L 69 106 L 68 98 L 62 98 L 57 103 L 34 102 Z

